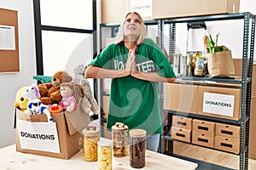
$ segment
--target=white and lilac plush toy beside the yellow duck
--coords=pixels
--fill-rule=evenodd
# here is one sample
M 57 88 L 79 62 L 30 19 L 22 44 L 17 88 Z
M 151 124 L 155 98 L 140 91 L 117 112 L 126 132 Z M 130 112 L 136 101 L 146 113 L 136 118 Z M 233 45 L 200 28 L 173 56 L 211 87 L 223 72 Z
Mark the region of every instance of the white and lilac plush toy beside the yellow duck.
M 39 93 L 39 88 L 37 85 L 32 84 L 31 86 L 27 87 L 21 94 L 21 96 L 24 99 L 28 99 L 28 104 L 27 104 L 27 108 L 26 111 L 24 111 L 27 114 L 31 114 L 31 110 L 29 109 L 28 105 L 30 105 L 30 103 L 32 103 L 33 99 L 38 99 L 40 98 L 40 93 Z

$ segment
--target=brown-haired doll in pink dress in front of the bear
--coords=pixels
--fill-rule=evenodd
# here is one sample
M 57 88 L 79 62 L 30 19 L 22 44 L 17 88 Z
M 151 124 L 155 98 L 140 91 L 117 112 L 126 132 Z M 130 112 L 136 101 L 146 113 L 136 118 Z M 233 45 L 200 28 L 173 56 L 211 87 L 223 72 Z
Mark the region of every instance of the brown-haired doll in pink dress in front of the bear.
M 84 88 L 79 83 L 63 82 L 61 83 L 61 96 L 59 105 L 67 112 L 74 111 L 84 97 Z

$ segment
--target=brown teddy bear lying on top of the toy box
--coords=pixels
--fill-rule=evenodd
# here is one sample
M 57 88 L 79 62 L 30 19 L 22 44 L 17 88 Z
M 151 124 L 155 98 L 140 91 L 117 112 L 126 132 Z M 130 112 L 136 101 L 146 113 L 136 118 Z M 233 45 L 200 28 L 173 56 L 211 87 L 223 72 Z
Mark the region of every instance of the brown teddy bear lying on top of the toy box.
M 59 104 L 61 101 L 60 85 L 62 82 L 72 82 L 71 77 L 67 71 L 57 71 L 52 77 L 52 82 L 38 84 L 41 95 L 41 102 L 44 105 Z

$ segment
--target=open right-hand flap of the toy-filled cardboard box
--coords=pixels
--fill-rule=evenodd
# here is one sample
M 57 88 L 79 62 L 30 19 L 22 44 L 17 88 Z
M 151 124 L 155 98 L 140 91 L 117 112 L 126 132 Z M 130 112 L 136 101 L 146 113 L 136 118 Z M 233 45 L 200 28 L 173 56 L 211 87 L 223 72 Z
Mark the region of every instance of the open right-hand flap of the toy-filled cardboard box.
M 75 111 L 65 112 L 67 121 L 67 128 L 70 135 L 80 132 L 84 127 L 88 126 L 90 122 L 90 116 L 88 113 L 82 111 L 81 107 L 78 107 Z

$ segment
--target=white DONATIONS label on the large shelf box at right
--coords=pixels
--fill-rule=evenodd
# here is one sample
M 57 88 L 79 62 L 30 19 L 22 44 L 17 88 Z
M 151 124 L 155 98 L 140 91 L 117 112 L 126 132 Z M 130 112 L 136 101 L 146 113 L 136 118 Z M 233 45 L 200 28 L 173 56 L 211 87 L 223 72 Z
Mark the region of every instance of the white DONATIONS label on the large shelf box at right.
M 233 116 L 234 106 L 234 95 L 204 93 L 203 112 L 222 116 Z

